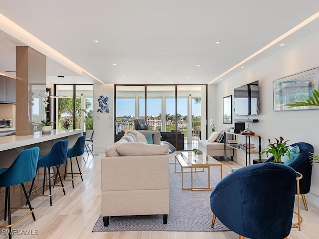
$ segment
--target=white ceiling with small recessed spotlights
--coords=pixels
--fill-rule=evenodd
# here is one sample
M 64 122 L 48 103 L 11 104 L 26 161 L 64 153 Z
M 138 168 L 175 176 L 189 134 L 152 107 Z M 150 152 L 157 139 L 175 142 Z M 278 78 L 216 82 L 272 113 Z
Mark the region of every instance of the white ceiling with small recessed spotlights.
M 207 84 L 318 11 L 319 0 L 0 1 L 0 14 L 99 80 L 119 84 Z M 318 19 L 245 68 L 317 30 Z M 15 70 L 16 45 L 25 43 L 0 31 L 1 73 Z M 48 81 L 64 75 L 65 83 L 97 83 L 89 74 L 47 60 Z

